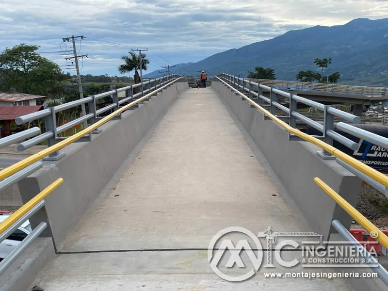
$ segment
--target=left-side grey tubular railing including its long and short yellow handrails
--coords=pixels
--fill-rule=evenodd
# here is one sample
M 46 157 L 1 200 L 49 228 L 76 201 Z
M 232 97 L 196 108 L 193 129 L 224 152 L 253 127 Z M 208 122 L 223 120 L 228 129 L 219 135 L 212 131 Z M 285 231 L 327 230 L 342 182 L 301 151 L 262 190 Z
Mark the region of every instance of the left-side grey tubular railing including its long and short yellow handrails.
M 43 166 L 43 163 L 40 162 L 41 159 L 44 159 L 45 157 L 52 155 L 53 153 L 57 153 L 60 149 L 64 148 L 65 146 L 70 145 L 73 142 L 80 141 L 83 136 L 90 134 L 94 130 L 98 129 L 98 127 L 104 125 L 108 121 L 112 120 L 116 116 L 121 116 L 121 113 L 123 113 L 126 110 L 129 110 L 130 108 L 133 108 L 133 106 L 137 105 L 138 103 L 142 103 L 148 99 L 150 99 L 154 94 L 157 92 L 163 90 L 164 88 L 170 86 L 174 82 L 179 80 L 178 75 L 170 75 L 167 77 L 154 79 L 150 81 L 146 81 L 143 83 L 144 85 L 148 85 L 148 88 L 144 90 L 143 92 L 139 92 L 136 94 L 133 93 L 133 88 L 136 87 L 143 87 L 142 84 L 136 84 L 127 86 L 124 88 L 120 88 L 117 90 L 97 94 L 95 96 L 90 96 L 87 98 L 83 98 L 81 100 L 76 100 L 73 102 L 68 102 L 62 105 L 54 106 L 45 108 L 43 111 L 32 113 L 28 115 L 24 115 L 19 117 L 21 121 L 29 122 L 31 120 L 34 120 L 36 118 L 41 117 L 49 117 L 46 120 L 49 120 L 52 122 L 51 124 L 47 125 L 48 132 L 41 134 L 33 139 L 39 138 L 39 140 L 42 139 L 50 139 L 52 137 L 55 137 L 55 135 L 59 132 L 62 132 L 65 130 L 66 127 L 69 127 L 70 125 L 65 124 L 66 126 L 60 126 L 56 127 L 55 125 L 55 113 L 58 113 L 60 111 L 73 108 L 75 106 L 78 106 L 80 104 L 84 104 L 86 102 L 94 104 L 95 101 L 98 98 L 102 98 L 105 96 L 111 96 L 113 95 L 113 105 L 108 105 L 102 109 L 99 109 L 100 111 L 96 110 L 95 105 L 93 107 L 90 107 L 89 110 L 92 111 L 92 113 L 86 114 L 85 116 L 82 116 L 78 119 L 76 119 L 74 122 L 71 122 L 71 124 L 79 124 L 82 123 L 84 120 L 93 120 L 93 123 L 88 126 L 86 129 L 82 129 L 80 132 L 67 137 L 65 139 L 58 140 L 57 138 L 52 140 L 53 145 L 49 145 L 46 149 L 41 150 L 33 155 L 31 155 L 28 158 L 25 158 L 22 161 L 16 162 L 8 167 L 6 167 L 3 170 L 0 170 L 0 191 L 4 190 L 5 188 L 15 184 L 16 182 L 20 181 L 23 178 L 26 178 L 30 174 L 34 173 L 38 169 L 40 169 Z M 125 98 L 118 100 L 117 93 L 120 91 L 126 91 Z M 150 93 L 148 93 L 150 92 Z M 145 93 L 148 93 L 144 95 Z M 135 99 L 138 97 L 137 99 Z M 124 105 L 120 107 L 120 104 L 123 104 L 125 102 L 129 102 L 127 105 Z M 97 119 L 97 115 L 103 112 L 106 112 L 108 110 L 114 111 L 110 113 L 109 115 Z M 99 113 L 98 113 L 99 112 Z M 92 116 L 93 115 L 93 116 Z M 50 118 L 51 117 L 51 118 Z M 0 147 L 5 145 L 10 145 L 12 143 L 15 143 L 17 141 L 26 139 L 27 137 L 31 137 L 34 135 L 37 135 L 40 133 L 39 128 L 32 128 L 27 129 L 23 132 L 20 132 L 18 135 L 13 135 L 9 137 L 5 137 L 0 139 Z M 46 134 L 46 135 L 45 135 Z M 43 135 L 43 137 L 42 137 Z M 32 140 L 33 140 L 32 139 Z M 32 146 L 36 144 L 36 140 L 32 141 L 29 140 L 27 142 L 30 142 L 30 144 L 26 144 L 26 142 L 20 144 L 24 146 Z M 19 146 L 20 146 L 19 145 Z M 28 148 L 26 147 L 26 148 Z M 42 192 L 34 196 L 29 202 L 24 204 L 21 208 L 16 210 L 13 214 L 11 214 L 7 219 L 5 219 L 3 222 L 0 223 L 0 242 L 2 242 L 4 239 L 6 239 L 10 234 L 12 234 L 19 226 L 21 226 L 26 220 L 28 220 L 32 215 L 34 215 L 37 211 L 42 209 L 45 205 L 44 198 L 54 191 L 61 183 L 63 182 L 62 178 L 56 179 L 52 184 L 50 184 L 47 188 L 45 188 Z M 47 222 L 45 222 L 47 221 Z M 36 226 L 32 232 L 22 241 L 18 244 L 16 249 L 14 249 L 6 258 L 4 258 L 0 262 L 0 275 L 12 264 L 13 261 L 25 250 L 31 242 L 33 242 L 42 232 L 45 230 L 49 230 L 49 236 L 52 236 L 51 234 L 51 228 L 49 227 L 49 219 L 46 217 L 44 222 L 41 222 L 38 226 Z M 54 244 L 55 247 L 55 244 Z

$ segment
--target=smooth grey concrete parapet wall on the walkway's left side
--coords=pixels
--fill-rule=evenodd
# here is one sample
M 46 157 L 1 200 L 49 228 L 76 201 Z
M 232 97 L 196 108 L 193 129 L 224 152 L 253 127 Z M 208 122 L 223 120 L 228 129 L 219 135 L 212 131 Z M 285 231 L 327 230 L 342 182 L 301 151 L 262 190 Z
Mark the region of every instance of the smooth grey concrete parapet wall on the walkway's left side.
M 187 81 L 174 83 L 150 101 L 139 104 L 139 108 L 124 112 L 121 120 L 103 125 L 91 143 L 65 147 L 62 150 L 65 157 L 44 162 L 42 169 L 18 183 L 23 202 L 27 202 L 55 179 L 64 178 L 63 184 L 45 198 L 45 210 L 57 247 L 147 131 L 187 88 Z M 32 226 L 40 222 L 34 217 L 30 221 Z

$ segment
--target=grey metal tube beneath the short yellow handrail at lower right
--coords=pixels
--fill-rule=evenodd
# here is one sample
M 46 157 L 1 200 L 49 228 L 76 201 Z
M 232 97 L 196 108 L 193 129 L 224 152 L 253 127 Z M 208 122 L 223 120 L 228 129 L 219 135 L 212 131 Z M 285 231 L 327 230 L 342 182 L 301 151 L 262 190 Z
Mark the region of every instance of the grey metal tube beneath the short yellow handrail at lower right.
M 370 267 L 373 272 L 376 272 L 378 274 L 378 277 L 384 282 L 385 285 L 388 286 L 388 272 L 387 270 L 376 260 L 374 257 L 366 250 L 364 250 L 364 247 L 361 243 L 359 243 L 355 237 L 338 221 L 333 220 L 331 222 L 331 225 L 334 226 L 335 229 L 337 229 L 338 233 L 348 242 L 352 242 L 352 244 L 356 244 L 357 247 L 362 250 L 361 255 L 365 254 L 365 256 L 362 256 L 366 261 L 372 261 L 373 264 L 377 265 L 377 267 Z M 358 252 L 357 252 L 358 253 Z

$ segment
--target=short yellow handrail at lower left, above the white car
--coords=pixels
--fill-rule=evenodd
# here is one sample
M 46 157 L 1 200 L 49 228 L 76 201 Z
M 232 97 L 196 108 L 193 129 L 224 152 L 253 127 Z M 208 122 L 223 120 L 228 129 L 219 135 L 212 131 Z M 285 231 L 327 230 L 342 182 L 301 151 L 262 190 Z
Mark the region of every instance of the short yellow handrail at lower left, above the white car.
M 8 227 L 12 226 L 16 220 L 22 217 L 28 210 L 32 209 L 38 202 L 44 199 L 48 194 L 54 191 L 64 181 L 63 178 L 58 178 L 52 182 L 49 186 L 43 189 L 42 192 L 34 196 L 30 201 L 16 210 L 13 214 L 7 217 L 3 222 L 0 223 L 0 234 L 3 233 Z

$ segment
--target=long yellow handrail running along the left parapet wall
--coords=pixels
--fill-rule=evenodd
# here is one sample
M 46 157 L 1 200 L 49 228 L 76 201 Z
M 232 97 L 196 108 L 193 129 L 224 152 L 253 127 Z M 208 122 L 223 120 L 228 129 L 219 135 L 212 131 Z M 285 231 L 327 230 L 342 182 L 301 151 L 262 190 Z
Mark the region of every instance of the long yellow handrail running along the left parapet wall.
M 93 130 L 97 129 L 98 127 L 102 126 L 103 124 L 105 124 L 106 122 L 108 122 L 109 120 L 111 120 L 114 116 L 116 116 L 117 114 L 120 114 L 120 113 L 123 113 L 124 111 L 126 111 L 127 109 L 129 109 L 130 107 L 132 107 L 133 105 L 139 103 L 140 101 L 154 95 L 156 92 L 162 90 L 163 88 L 171 85 L 172 83 L 174 83 L 175 81 L 178 81 L 180 78 L 178 79 L 175 79 L 174 81 L 171 81 L 169 82 L 168 84 L 165 84 L 164 86 L 160 87 L 159 89 L 157 90 L 154 90 L 152 91 L 151 93 L 148 93 L 147 95 L 139 98 L 139 99 L 136 99 L 135 101 L 132 101 L 130 102 L 129 104 L 121 107 L 120 109 L 114 111 L 113 113 L 105 116 L 104 118 L 102 118 L 101 120 L 97 121 L 96 123 L 92 124 L 91 126 L 89 126 L 88 128 L 86 129 L 83 129 L 81 130 L 80 132 L 66 138 L 65 140 L 53 145 L 53 146 L 50 146 L 48 148 L 45 148 L 44 150 L 41 150 L 40 152 L 37 152 L 36 154 L 33 154 L 31 155 L 30 157 L 28 158 L 25 158 L 19 162 L 16 162 L 6 168 L 4 168 L 3 170 L 0 171 L 0 180 L 1 179 L 4 179 L 4 178 L 7 178 L 8 176 L 11 176 L 12 174 L 16 173 L 17 171 L 20 171 L 21 169 L 25 168 L 26 166 L 28 165 L 31 165 L 32 163 L 36 162 L 36 161 L 39 161 L 40 159 L 48 156 L 49 154 L 57 151 L 57 150 L 60 150 L 62 148 L 64 148 L 65 146 L 68 146 L 69 144 L 75 142 L 76 140 L 80 139 L 82 136 L 88 134 L 89 132 L 92 132 Z

